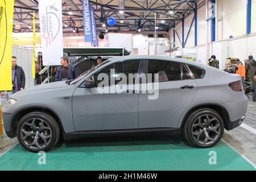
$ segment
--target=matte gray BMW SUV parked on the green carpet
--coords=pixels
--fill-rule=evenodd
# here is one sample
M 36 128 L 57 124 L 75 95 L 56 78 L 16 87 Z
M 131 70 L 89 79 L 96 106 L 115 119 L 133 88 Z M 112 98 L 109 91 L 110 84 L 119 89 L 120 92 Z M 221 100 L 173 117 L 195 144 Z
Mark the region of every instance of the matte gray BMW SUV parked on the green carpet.
M 239 75 L 184 59 L 127 56 L 15 93 L 2 117 L 6 134 L 32 152 L 60 138 L 159 131 L 206 148 L 241 125 L 246 110 Z

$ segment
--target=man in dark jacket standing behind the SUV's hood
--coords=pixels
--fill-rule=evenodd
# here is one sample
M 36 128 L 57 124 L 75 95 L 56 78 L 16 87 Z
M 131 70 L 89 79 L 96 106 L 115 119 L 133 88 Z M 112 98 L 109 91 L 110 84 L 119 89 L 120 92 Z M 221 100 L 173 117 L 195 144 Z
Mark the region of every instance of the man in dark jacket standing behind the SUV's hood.
M 68 57 L 63 56 L 60 59 L 61 66 L 57 68 L 55 81 L 72 80 L 76 77 L 76 69 L 68 63 Z

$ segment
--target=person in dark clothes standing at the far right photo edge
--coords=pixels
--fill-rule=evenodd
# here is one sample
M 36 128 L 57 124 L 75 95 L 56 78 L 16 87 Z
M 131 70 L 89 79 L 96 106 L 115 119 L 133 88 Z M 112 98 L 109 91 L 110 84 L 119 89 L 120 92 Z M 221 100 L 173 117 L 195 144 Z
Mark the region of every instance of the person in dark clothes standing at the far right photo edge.
M 248 57 L 249 61 L 246 64 L 246 76 L 248 78 L 248 81 L 251 82 L 250 90 L 251 92 L 254 92 L 255 89 L 255 81 L 253 80 L 256 72 L 256 61 L 253 59 L 253 56 Z

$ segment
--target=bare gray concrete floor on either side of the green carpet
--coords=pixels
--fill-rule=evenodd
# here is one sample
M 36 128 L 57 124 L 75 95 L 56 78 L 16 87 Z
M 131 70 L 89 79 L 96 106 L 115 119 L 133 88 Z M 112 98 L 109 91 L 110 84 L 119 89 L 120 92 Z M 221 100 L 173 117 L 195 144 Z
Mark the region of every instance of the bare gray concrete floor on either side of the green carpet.
M 249 97 L 248 110 L 244 124 L 256 129 L 256 102 Z M 232 131 L 225 131 L 222 138 L 228 146 L 236 150 L 238 154 L 245 156 L 255 166 L 256 164 L 256 134 L 239 126 Z M 0 155 L 13 147 L 17 139 L 10 139 L 5 134 L 0 136 Z

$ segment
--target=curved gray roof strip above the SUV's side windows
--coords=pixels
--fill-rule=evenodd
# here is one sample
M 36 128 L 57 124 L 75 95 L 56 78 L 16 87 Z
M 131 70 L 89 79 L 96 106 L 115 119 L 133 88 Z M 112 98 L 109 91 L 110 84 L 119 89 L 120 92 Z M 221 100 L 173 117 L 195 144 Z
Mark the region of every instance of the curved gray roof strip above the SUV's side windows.
M 154 56 L 154 55 L 139 55 L 139 56 L 121 56 L 121 57 L 113 57 L 109 59 L 110 63 L 115 63 L 118 61 L 125 61 L 125 60 L 141 60 L 141 59 L 148 59 L 148 60 L 166 60 L 166 61 L 176 61 L 179 63 L 184 64 L 192 64 L 198 67 L 205 67 L 206 65 L 201 64 L 195 61 L 189 61 L 187 59 L 177 58 L 177 57 L 168 57 L 168 56 Z

